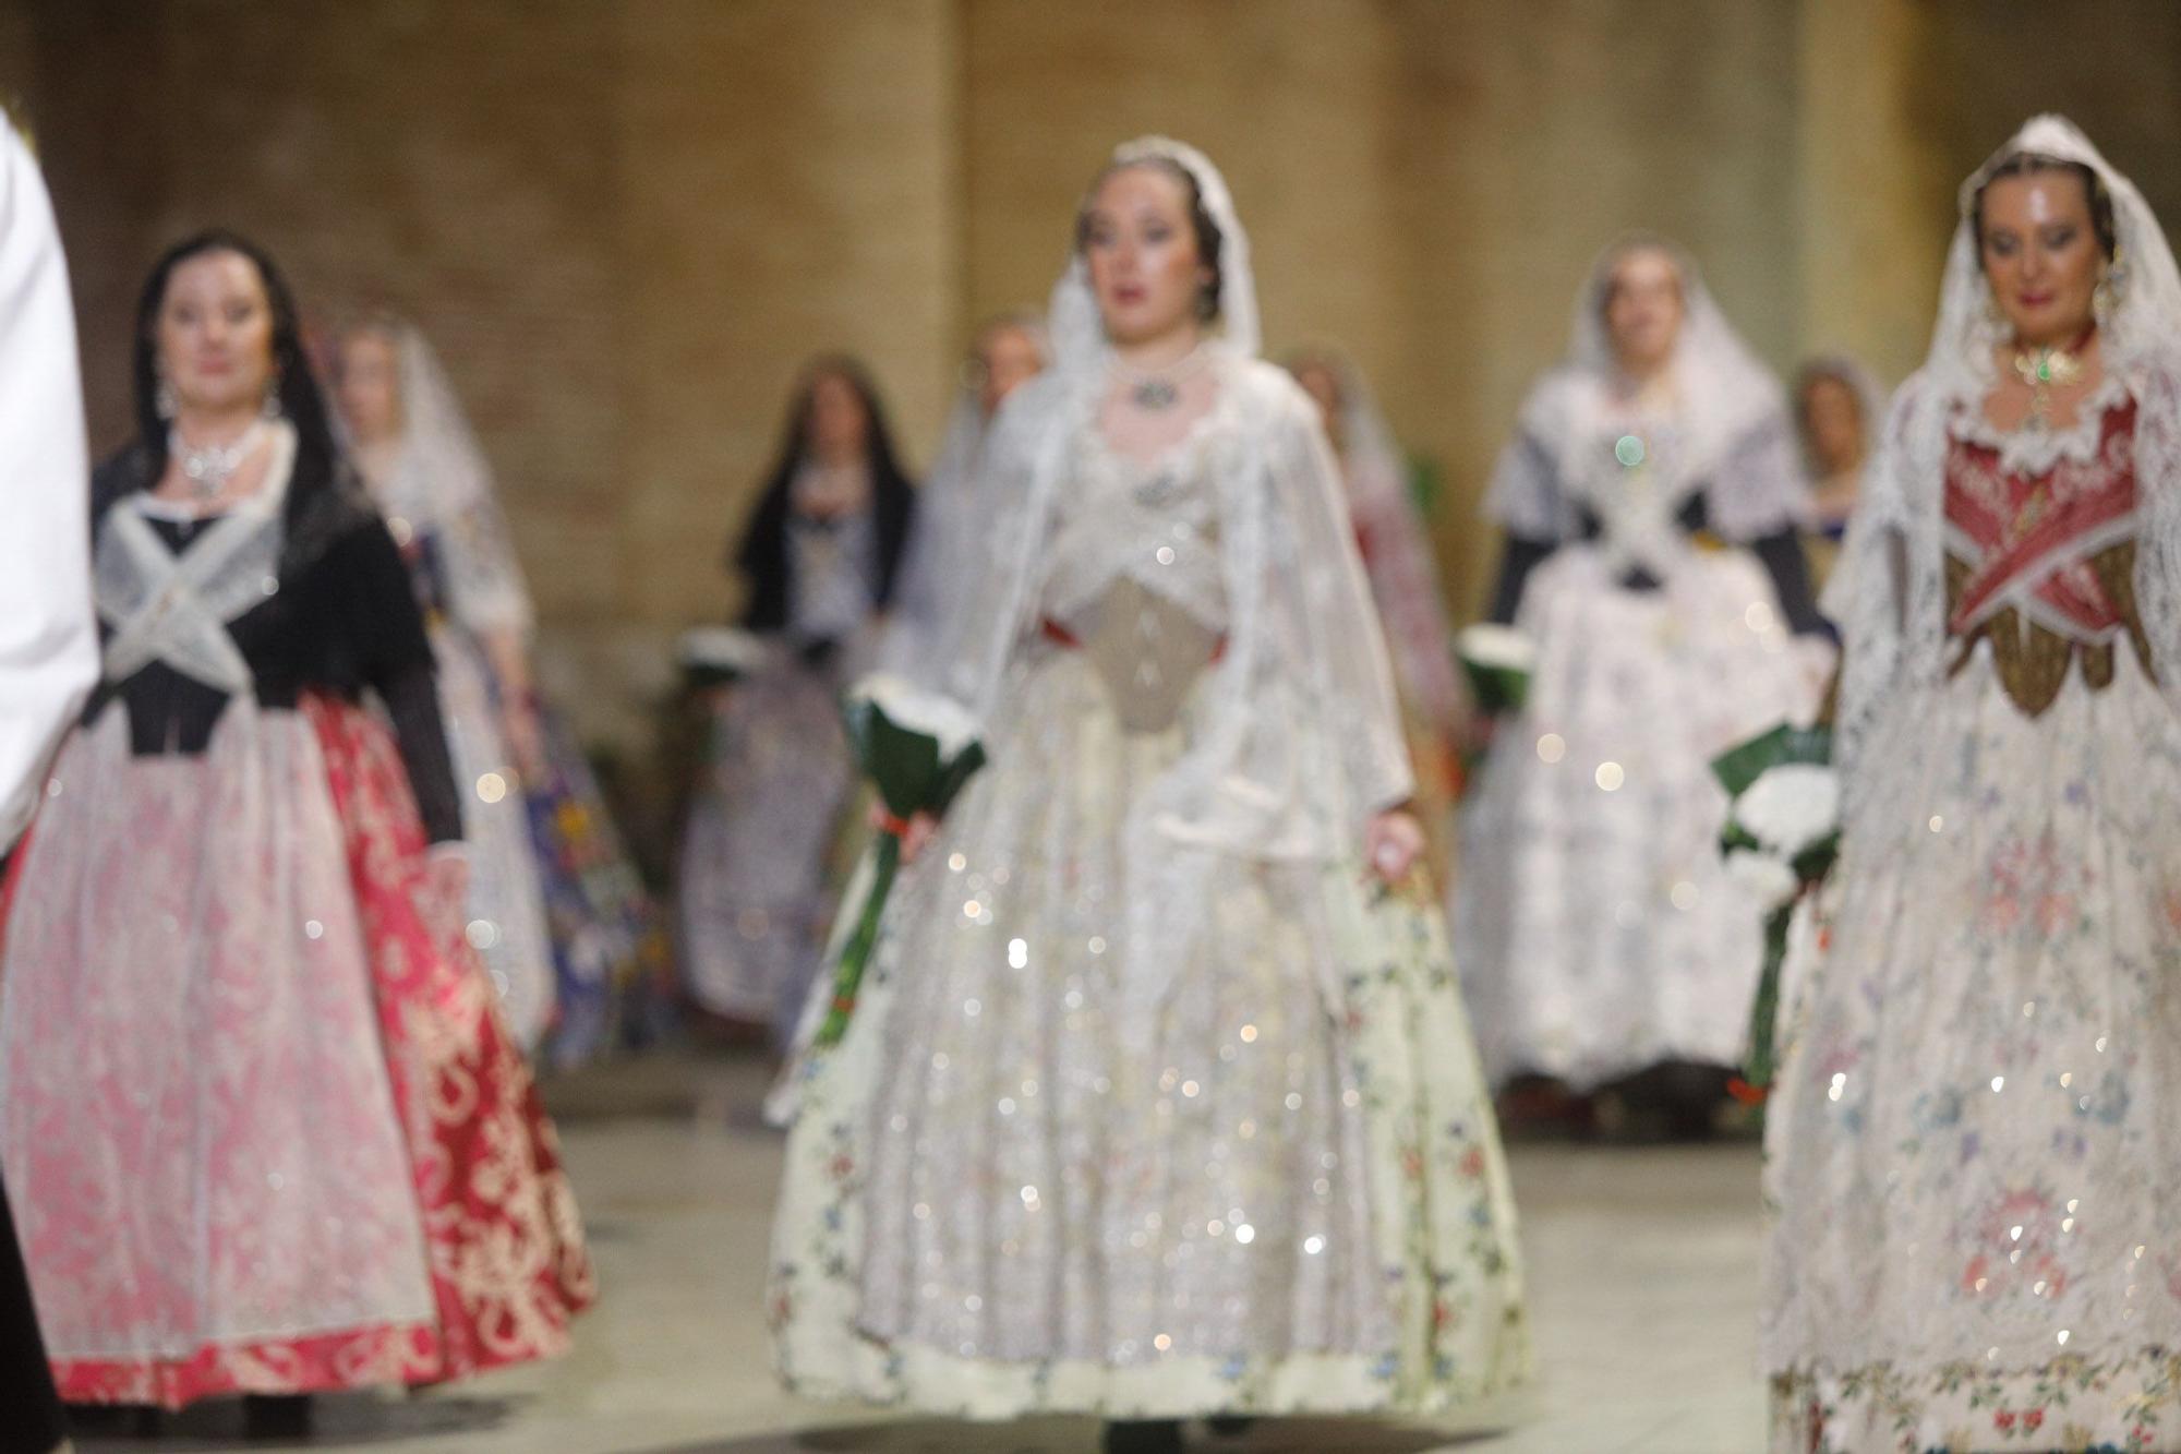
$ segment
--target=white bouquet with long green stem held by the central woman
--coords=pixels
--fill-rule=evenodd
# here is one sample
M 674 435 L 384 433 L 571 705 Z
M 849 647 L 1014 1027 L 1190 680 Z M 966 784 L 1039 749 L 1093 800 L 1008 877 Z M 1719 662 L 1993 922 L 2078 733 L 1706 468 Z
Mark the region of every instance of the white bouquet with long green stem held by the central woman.
M 879 919 L 901 869 L 901 841 L 916 814 L 940 817 L 984 766 L 977 720 L 953 699 L 925 692 L 901 677 L 872 672 L 842 699 L 848 749 L 864 777 L 879 792 L 885 819 L 879 825 L 870 893 L 855 932 L 833 967 L 833 1002 L 818 1026 L 818 1046 L 838 1046 L 855 1015 L 864 969 L 879 943 Z

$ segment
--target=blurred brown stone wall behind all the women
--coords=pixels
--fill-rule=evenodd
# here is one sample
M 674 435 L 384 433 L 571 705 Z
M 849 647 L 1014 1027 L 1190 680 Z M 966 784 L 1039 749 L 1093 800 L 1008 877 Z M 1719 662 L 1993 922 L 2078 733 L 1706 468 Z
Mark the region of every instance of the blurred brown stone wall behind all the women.
M 1474 502 L 1590 258 L 1682 238 L 1786 369 L 1921 356 L 1954 181 L 2076 114 L 2181 216 L 2168 0 L 0 0 L 39 127 L 94 439 L 155 251 L 257 234 L 321 314 L 436 341 L 499 467 L 585 727 L 639 736 L 794 367 L 877 367 L 929 456 L 975 319 L 1043 301 L 1106 148 L 1228 170 L 1267 338 L 1343 343 Z

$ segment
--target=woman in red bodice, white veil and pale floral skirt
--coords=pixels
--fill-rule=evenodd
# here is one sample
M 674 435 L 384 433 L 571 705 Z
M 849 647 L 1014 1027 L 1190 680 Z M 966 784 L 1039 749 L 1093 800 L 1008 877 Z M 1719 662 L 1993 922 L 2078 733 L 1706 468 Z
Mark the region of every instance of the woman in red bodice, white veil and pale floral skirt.
M 1961 188 L 1849 533 L 1773 1450 L 2181 1450 L 2181 273 L 2057 116 Z

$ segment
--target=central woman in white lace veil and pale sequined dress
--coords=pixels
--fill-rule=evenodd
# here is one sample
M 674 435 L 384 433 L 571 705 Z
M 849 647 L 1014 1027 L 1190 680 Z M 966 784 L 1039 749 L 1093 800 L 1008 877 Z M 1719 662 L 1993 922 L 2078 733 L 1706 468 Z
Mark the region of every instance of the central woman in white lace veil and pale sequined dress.
M 1114 153 L 1051 327 L 933 683 L 992 766 L 909 830 L 800 1074 L 783 1378 L 1117 1454 L 1468 1404 L 1527 1360 L 1514 1205 L 1337 465 L 1210 162 Z

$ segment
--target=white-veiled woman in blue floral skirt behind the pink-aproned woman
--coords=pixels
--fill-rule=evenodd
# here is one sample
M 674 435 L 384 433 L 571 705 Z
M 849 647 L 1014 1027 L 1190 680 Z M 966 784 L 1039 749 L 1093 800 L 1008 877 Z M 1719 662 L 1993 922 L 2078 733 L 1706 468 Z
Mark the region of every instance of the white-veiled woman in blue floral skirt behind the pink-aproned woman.
M 537 696 L 532 611 L 493 472 L 423 334 L 342 330 L 336 400 L 358 469 L 410 563 L 438 662 L 469 843 L 469 939 L 526 1048 L 608 1048 L 661 934 L 604 799 Z

